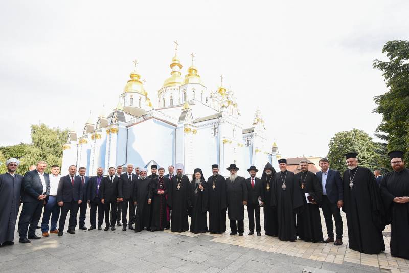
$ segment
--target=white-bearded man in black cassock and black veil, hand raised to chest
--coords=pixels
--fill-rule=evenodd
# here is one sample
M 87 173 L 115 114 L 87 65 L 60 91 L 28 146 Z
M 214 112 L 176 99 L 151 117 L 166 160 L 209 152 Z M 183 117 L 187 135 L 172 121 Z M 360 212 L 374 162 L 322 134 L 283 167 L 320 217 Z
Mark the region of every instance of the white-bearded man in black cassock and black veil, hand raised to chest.
M 190 212 L 190 232 L 205 233 L 208 230 L 207 208 L 208 208 L 208 188 L 201 169 L 193 171 L 192 182 L 189 184 L 191 200 Z

